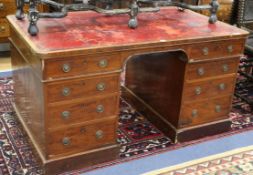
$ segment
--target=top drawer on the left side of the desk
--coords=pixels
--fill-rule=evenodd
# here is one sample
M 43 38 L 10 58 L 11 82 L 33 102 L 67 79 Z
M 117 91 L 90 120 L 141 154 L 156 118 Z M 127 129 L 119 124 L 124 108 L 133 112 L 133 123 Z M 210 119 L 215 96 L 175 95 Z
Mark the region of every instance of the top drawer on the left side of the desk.
M 51 79 L 120 69 L 120 55 L 112 54 L 45 60 L 44 78 Z

